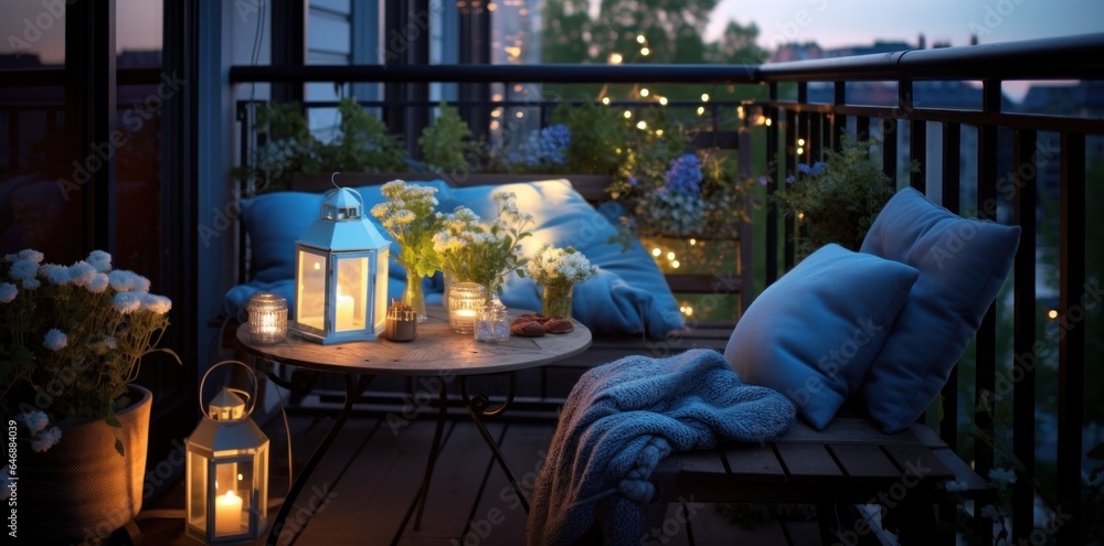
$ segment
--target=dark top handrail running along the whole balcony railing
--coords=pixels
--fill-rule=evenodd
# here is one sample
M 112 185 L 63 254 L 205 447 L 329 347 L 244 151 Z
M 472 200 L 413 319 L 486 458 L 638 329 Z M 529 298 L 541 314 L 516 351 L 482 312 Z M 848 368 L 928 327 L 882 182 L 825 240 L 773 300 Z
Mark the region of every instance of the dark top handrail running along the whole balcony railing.
M 1104 73 L 1104 33 L 764 65 L 378 64 L 244 66 L 230 83 L 762 84 L 809 81 L 1078 79 Z

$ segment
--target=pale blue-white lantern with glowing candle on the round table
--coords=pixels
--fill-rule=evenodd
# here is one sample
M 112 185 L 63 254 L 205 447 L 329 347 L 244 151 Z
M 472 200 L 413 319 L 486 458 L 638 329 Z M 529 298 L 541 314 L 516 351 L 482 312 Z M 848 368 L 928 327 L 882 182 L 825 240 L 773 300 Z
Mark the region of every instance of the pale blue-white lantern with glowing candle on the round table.
M 374 340 L 388 315 L 390 242 L 348 188 L 326 192 L 318 220 L 295 244 L 293 330 L 322 344 Z

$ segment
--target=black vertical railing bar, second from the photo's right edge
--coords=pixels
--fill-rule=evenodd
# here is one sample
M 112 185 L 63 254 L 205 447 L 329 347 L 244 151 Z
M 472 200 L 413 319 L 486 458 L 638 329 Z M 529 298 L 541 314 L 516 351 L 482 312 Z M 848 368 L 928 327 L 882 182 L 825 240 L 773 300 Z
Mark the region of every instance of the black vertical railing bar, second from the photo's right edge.
M 1012 489 L 1012 543 L 1027 544 L 1034 526 L 1034 427 L 1036 427 L 1036 131 L 1016 131 L 1016 221 L 1020 226 L 1020 246 L 1013 274 L 1013 317 L 1011 370 L 1012 454 L 1023 464 Z M 1007 396 L 1007 393 L 998 393 Z

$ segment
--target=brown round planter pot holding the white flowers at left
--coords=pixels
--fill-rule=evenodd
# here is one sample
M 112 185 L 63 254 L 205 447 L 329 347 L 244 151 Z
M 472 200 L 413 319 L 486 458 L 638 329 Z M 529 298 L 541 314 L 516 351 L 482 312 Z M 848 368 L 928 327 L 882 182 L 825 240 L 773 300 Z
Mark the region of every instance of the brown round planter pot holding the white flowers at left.
M 67 427 L 41 453 L 20 442 L 20 536 L 40 544 L 98 544 L 138 515 L 153 396 L 137 385 L 128 394 L 138 402 L 116 414 L 121 429 L 104 421 Z

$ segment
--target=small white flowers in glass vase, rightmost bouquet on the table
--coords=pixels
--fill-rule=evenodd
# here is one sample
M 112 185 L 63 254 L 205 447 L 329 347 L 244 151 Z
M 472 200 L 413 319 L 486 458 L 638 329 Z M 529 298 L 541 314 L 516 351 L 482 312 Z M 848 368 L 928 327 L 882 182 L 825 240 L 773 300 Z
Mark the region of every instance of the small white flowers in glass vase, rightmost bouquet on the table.
M 541 313 L 545 317 L 571 318 L 571 295 L 575 285 L 598 274 L 597 266 L 573 247 L 555 248 L 542 245 L 531 260 L 529 275 L 543 288 Z

